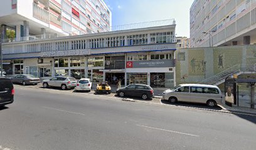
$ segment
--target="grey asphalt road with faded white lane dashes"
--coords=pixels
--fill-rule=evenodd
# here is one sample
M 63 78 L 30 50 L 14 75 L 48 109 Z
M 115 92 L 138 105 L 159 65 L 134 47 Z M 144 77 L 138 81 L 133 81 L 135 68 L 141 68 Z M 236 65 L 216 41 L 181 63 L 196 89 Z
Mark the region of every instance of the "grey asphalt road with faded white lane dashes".
M 255 149 L 256 117 L 15 86 L 0 149 Z

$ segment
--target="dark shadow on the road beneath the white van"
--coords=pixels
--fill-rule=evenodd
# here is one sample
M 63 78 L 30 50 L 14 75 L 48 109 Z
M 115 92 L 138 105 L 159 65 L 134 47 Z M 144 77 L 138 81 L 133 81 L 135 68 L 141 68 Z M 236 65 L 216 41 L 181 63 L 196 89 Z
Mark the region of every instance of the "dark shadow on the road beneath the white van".
M 171 103 L 169 103 L 169 101 L 166 101 L 164 99 L 161 99 L 161 103 L 174 105 L 174 106 L 184 106 L 184 107 L 189 107 L 189 108 L 201 108 L 201 109 L 203 108 L 203 109 L 212 109 L 212 110 L 216 110 L 216 111 L 222 110 L 222 108 L 220 108 L 219 106 L 210 108 L 210 107 L 206 106 L 206 104 L 198 104 L 198 103 L 178 102 L 176 104 L 171 104 Z

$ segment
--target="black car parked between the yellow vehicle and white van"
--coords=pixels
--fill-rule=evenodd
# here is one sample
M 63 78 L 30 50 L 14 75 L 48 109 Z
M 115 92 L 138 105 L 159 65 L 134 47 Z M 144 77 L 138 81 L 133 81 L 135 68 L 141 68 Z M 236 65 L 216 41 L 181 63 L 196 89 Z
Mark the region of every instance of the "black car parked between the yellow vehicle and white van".
M 124 88 L 118 88 L 117 94 L 120 97 L 136 96 L 142 99 L 149 99 L 154 97 L 154 90 L 151 88 L 151 86 L 147 86 L 145 84 L 131 84 L 129 86 L 125 86 Z

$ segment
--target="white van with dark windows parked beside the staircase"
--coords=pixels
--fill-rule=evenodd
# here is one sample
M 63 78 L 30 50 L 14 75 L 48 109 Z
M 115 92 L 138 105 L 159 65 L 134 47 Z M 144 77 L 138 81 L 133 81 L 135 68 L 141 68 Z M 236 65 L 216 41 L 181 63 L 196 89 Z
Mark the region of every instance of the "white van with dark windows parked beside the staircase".
M 204 103 L 214 107 L 221 104 L 222 94 L 217 86 L 205 84 L 180 84 L 164 91 L 163 98 L 170 103 L 177 101 Z

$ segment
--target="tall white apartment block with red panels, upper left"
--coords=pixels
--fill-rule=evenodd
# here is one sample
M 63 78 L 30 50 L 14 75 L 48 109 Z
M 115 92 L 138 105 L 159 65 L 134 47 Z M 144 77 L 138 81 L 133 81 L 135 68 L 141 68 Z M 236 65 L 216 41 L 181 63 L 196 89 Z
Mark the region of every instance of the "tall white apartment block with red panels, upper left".
M 104 0 L 2 0 L 0 5 L 3 35 L 13 29 L 12 41 L 107 32 L 111 16 Z

